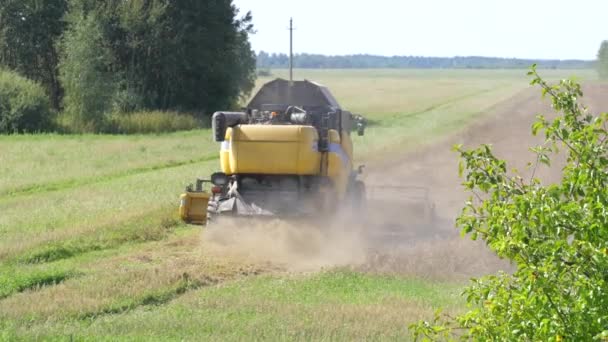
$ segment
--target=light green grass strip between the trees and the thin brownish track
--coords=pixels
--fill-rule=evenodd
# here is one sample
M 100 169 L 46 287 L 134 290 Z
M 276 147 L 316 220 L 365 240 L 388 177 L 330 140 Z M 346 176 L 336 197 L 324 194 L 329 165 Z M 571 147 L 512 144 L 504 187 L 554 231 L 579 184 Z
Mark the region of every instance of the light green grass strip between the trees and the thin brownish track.
M 163 135 L 0 136 L 0 198 L 217 156 L 207 130 Z

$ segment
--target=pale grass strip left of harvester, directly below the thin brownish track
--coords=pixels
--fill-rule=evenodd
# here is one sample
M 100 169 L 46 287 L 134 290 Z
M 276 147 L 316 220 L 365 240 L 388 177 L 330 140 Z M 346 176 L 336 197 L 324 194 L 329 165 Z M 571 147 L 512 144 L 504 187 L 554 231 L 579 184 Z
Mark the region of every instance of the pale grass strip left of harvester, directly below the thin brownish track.
M 45 243 L 91 234 L 155 210 L 173 208 L 197 176 L 216 161 L 135 174 L 47 193 L 0 199 L 0 260 Z

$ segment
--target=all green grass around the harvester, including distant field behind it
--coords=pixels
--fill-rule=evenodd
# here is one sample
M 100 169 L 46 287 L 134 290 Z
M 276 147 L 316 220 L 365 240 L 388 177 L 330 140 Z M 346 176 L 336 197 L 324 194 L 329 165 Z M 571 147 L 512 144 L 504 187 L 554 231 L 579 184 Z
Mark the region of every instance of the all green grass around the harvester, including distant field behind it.
M 296 76 L 370 119 L 359 160 L 453 134 L 528 87 L 525 70 Z M 461 308 L 460 280 L 294 273 L 212 253 L 176 208 L 188 182 L 218 168 L 218 148 L 208 130 L 0 136 L 0 340 L 390 339 Z

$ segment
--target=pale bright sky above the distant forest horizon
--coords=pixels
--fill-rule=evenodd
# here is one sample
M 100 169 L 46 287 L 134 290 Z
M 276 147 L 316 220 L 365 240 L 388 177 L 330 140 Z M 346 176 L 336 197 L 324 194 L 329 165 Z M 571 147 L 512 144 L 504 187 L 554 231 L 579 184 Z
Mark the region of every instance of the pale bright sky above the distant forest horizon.
M 608 0 L 234 0 L 256 51 L 594 59 Z

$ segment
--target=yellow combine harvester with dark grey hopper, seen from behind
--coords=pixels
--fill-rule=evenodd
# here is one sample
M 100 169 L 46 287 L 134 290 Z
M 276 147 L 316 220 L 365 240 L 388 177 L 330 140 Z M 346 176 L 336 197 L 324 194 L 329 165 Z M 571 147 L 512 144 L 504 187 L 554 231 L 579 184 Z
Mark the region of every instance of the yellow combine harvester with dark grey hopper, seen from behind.
M 365 186 L 357 179 L 361 167 L 353 169 L 351 131 L 363 135 L 365 120 L 343 110 L 326 87 L 276 79 L 243 112 L 215 113 L 212 126 L 221 172 L 186 188 L 184 221 L 362 209 Z

